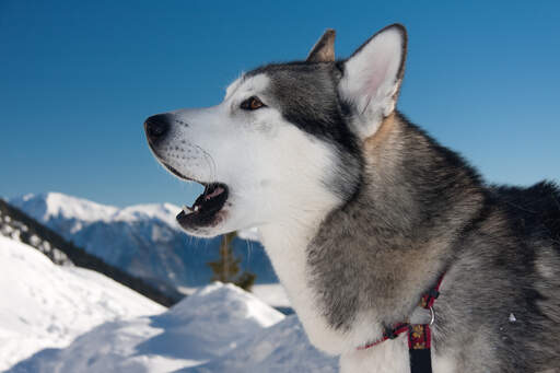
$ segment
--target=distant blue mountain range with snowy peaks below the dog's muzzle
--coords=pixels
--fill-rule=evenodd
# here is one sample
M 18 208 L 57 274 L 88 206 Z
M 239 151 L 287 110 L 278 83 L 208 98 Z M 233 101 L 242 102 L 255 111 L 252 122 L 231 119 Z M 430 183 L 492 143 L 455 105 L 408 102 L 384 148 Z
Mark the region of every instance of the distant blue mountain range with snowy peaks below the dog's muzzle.
M 187 236 L 175 221 L 179 208 L 171 203 L 127 208 L 104 206 L 58 193 L 10 199 L 12 206 L 60 233 L 105 261 L 164 289 L 208 283 L 206 265 L 218 255 L 219 238 Z M 236 240 L 235 253 L 258 283 L 276 282 L 261 246 Z

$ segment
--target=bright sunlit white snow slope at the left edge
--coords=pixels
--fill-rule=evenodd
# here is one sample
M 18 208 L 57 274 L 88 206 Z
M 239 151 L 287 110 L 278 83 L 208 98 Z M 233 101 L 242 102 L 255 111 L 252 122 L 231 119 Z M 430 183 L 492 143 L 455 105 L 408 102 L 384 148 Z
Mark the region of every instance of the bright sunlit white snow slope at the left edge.
M 0 371 L 46 347 L 65 347 L 107 320 L 164 311 L 94 271 L 56 266 L 0 236 Z

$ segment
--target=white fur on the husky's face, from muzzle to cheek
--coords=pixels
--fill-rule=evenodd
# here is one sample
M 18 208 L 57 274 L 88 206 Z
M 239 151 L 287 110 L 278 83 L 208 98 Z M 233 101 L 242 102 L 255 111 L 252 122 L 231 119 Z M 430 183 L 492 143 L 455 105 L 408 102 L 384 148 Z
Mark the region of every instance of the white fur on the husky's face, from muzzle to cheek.
M 189 178 L 230 188 L 226 219 L 189 233 L 210 236 L 287 221 L 307 224 L 302 206 L 305 213 L 325 215 L 338 202 L 323 184 L 334 162 L 332 149 L 287 123 L 273 107 L 240 108 L 252 95 L 267 104 L 268 83 L 265 74 L 242 77 L 220 105 L 174 112 L 183 125 L 173 126 L 160 158 Z

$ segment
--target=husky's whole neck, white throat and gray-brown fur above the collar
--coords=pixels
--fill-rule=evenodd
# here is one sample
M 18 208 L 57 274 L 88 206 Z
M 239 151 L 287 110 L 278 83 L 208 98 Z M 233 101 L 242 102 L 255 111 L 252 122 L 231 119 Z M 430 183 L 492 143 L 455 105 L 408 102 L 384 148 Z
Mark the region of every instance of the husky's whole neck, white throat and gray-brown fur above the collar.
M 332 346 L 358 346 L 410 315 L 483 200 L 471 168 L 398 114 L 363 153 L 362 185 L 349 202 L 305 225 L 261 229 L 310 338 L 335 353 Z

